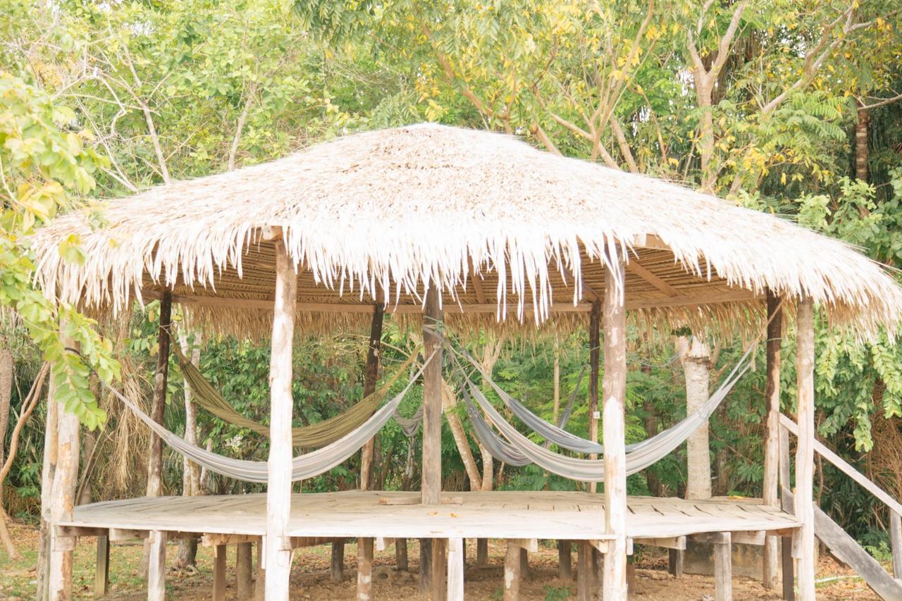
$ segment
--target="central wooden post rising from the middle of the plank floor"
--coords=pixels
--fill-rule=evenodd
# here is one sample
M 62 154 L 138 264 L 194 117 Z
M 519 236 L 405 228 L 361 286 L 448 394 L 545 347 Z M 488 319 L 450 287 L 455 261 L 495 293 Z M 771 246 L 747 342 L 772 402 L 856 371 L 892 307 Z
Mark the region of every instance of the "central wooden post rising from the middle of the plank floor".
M 423 478 L 422 502 L 437 505 L 442 490 L 442 327 L 441 293 L 438 282 L 430 282 L 423 315 L 423 346 L 431 356 L 423 370 Z

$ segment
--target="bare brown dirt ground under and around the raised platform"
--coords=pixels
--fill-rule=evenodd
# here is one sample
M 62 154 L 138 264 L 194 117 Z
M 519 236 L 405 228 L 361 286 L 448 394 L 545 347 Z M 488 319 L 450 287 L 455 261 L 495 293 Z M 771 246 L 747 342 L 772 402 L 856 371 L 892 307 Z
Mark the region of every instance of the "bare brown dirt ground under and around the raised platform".
M 12 531 L 21 559 L 11 561 L 0 551 L 0 598 L 33 598 L 35 564 L 37 561 L 37 531 L 33 526 L 14 524 Z M 167 556 L 173 559 L 178 543 L 171 543 Z M 228 598 L 235 599 L 234 547 L 229 549 Z M 491 541 L 490 565 L 475 568 L 475 541 L 467 541 L 468 565 L 465 575 L 467 599 L 500 599 L 502 594 L 502 567 L 504 546 L 501 541 Z M 638 599 L 704 600 L 713 599 L 713 578 L 686 575 L 672 578 L 667 574 L 667 560 L 646 552 L 636 564 L 636 586 L 633 594 Z M 410 541 L 410 569 L 417 569 L 419 550 L 416 541 Z M 107 599 L 146 598 L 143 578 L 139 576 L 142 545 L 138 542 L 114 543 L 110 553 L 110 594 Z M 343 601 L 354 599 L 356 585 L 356 547 L 345 547 L 345 579 L 338 584 L 329 581 L 329 549 L 316 547 L 299 550 L 294 558 L 291 575 L 292 598 L 327 599 Z M 574 566 L 575 566 L 574 553 Z M 73 578 L 74 598 L 94 598 L 95 546 L 93 539 L 78 543 L 75 554 Z M 523 599 L 564 601 L 576 593 L 575 582 L 557 578 L 557 550 L 540 546 L 538 553 L 529 555 L 530 575 L 520 585 Z M 172 599 L 208 599 L 212 591 L 213 558 L 209 549 L 198 550 L 198 570 L 195 573 L 170 571 L 166 585 L 167 597 Z M 842 569 L 832 559 L 822 557 L 818 578 L 824 580 L 817 588 L 819 599 L 876 599 L 861 578 L 854 577 L 848 569 Z M 829 578 L 829 579 L 828 579 Z M 766 591 L 751 578 L 733 578 L 734 599 L 779 599 L 778 593 Z M 394 548 L 377 551 L 373 569 L 374 599 L 421 599 L 419 579 L 416 573 L 394 569 Z

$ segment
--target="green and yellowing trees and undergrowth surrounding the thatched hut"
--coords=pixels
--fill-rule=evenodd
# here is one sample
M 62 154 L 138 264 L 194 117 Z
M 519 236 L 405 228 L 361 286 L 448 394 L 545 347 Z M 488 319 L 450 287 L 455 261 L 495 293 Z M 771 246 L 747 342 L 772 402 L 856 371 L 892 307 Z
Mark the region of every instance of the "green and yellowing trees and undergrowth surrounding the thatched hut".
M 680 182 L 841 238 L 890 267 L 902 263 L 902 32 L 895 0 L 0 5 L 0 466 L 17 441 L 0 479 L 0 501 L 18 521 L 35 522 L 40 513 L 46 405 L 32 407 L 29 391 L 47 361 L 56 362 L 49 377 L 67 411 L 85 426 L 78 498 L 145 491 L 148 431 L 101 392 L 100 382 L 150 406 L 158 303 L 135 304 L 129 319 L 117 323 L 97 323 L 47 300 L 31 277 L 27 236 L 62 211 L 96 208 L 99 199 L 268 161 L 341 134 L 437 121 Z M 103 222 L 101 210 L 96 218 Z M 84 259 L 77 236 L 64 246 L 70 261 Z M 823 318 L 816 328 L 818 435 L 899 498 L 902 347 L 892 342 L 902 331 L 861 341 Z M 782 402 L 792 414 L 795 344 L 792 328 L 785 329 Z M 63 351 L 60 331 L 78 341 L 81 356 Z M 749 342 L 723 334 L 730 331 L 688 333 L 704 341 L 713 388 Z M 235 409 L 268 423 L 265 341 L 196 331 L 178 310 L 174 332 L 173 344 L 198 349 L 201 371 Z M 296 426 L 361 398 L 366 334 L 301 337 Z M 630 326 L 627 442 L 685 417 L 676 339 L 686 334 L 676 326 Z M 451 335 L 548 421 L 579 381 L 567 429 L 588 436 L 589 384 L 579 377 L 589 360 L 583 329 Z M 386 318 L 383 375 L 407 359 L 416 337 Z M 713 495 L 762 493 L 763 345 L 754 365 L 711 420 Z M 41 398 L 46 390 L 44 384 Z M 186 428 L 184 394 L 172 358 L 165 425 L 179 434 Z M 414 387 L 401 412 L 415 411 L 419 395 Z M 198 444 L 217 453 L 267 457 L 267 439 L 207 411 L 198 410 L 197 430 Z M 390 422 L 376 441 L 377 487 L 418 489 L 419 445 L 419 435 L 408 438 Z M 462 459 L 467 455 L 471 466 Z M 446 490 L 584 487 L 538 467 L 502 467 L 486 458 L 463 403 L 446 408 Z M 166 449 L 166 494 L 182 493 L 184 469 Z M 303 490 L 356 488 L 359 473 L 358 455 L 304 481 Z M 629 492 L 685 495 L 686 478 L 684 446 L 630 476 Z M 213 474 L 204 474 L 201 485 L 211 495 L 262 490 Z M 824 511 L 882 559 L 886 508 L 826 462 L 815 469 L 815 486 Z

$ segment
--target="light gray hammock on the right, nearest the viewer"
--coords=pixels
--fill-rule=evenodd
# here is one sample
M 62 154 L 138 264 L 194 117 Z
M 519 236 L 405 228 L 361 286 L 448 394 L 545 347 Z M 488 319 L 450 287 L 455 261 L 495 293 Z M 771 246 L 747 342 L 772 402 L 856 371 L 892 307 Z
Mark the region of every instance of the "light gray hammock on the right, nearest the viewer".
M 677 447 L 679 447 L 689 436 L 698 430 L 717 409 L 718 405 L 723 402 L 727 394 L 730 393 L 732 387 L 741 379 L 750 367 L 749 357 L 754 345 L 746 350 L 745 354 L 732 372 L 724 379 L 720 388 L 715 391 L 707 402 L 690 413 L 676 425 L 664 430 L 658 435 L 645 439 L 642 442 L 626 445 L 626 473 L 627 475 L 635 474 L 641 470 L 657 463 L 662 458 L 667 457 Z M 489 421 L 497 428 L 504 439 L 501 439 L 483 420 L 480 411 L 473 407 L 472 411 L 468 407 L 471 420 L 474 422 L 474 431 L 483 446 L 492 453 L 492 457 L 499 461 L 511 461 L 511 465 L 524 465 L 523 462 L 534 463 L 538 467 L 547 469 L 553 474 L 564 476 L 572 480 L 580 480 L 584 482 L 602 482 L 604 479 L 604 462 L 603 459 L 582 459 L 571 458 L 548 450 L 541 445 L 536 444 L 526 436 L 514 428 L 510 422 L 506 421 L 502 414 L 493 406 L 479 387 L 472 380 L 466 377 L 463 368 L 455 358 L 455 364 L 458 372 L 464 378 L 465 387 L 472 393 L 479 407 L 488 416 Z M 490 379 L 488 379 L 491 382 Z M 473 402 L 465 396 L 465 400 L 472 405 Z M 538 419 L 538 418 L 537 418 Z M 481 424 L 479 422 L 482 422 Z M 548 424 L 548 422 L 546 422 Z M 479 425 L 477 425 L 479 424 Z M 551 424 L 548 424 L 550 426 Z M 484 437 L 484 440 L 483 440 Z M 502 444 L 503 443 L 503 444 Z M 599 445 L 603 454 L 603 446 Z M 495 453 L 498 453 L 496 456 Z

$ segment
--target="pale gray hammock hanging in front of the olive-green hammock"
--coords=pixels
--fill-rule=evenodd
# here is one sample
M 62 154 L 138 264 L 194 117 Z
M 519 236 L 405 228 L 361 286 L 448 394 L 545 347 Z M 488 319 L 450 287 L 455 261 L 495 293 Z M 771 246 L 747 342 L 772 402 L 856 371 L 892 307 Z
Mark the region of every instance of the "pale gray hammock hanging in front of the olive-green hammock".
M 354 455 L 367 440 L 372 439 L 376 432 L 382 430 L 382 427 L 389 421 L 398 409 L 401 400 L 410 390 L 410 386 L 419 378 L 419 375 L 426 369 L 429 361 L 436 356 L 435 351 L 428 356 L 419 371 L 410 377 L 410 381 L 404 386 L 404 390 L 391 398 L 382 407 L 373 413 L 373 416 L 364 421 L 361 426 L 351 430 L 345 436 L 337 439 L 335 442 L 310 451 L 304 455 L 293 458 L 291 460 L 291 482 L 298 482 L 313 476 L 319 476 L 328 470 L 336 467 L 345 461 L 345 459 Z M 180 455 L 189 458 L 200 466 L 207 467 L 212 472 L 243 480 L 244 482 L 255 482 L 258 484 L 266 484 L 269 478 L 269 470 L 266 461 L 249 461 L 247 459 L 235 459 L 219 455 L 205 448 L 189 443 L 181 438 L 178 434 L 167 430 L 161 424 L 153 421 L 152 418 L 141 411 L 137 404 L 128 399 L 123 393 L 115 390 L 112 386 L 106 385 L 106 388 L 115 395 L 123 404 L 128 407 L 141 421 L 147 424 L 157 436 L 159 436 L 170 448 L 173 448 Z

